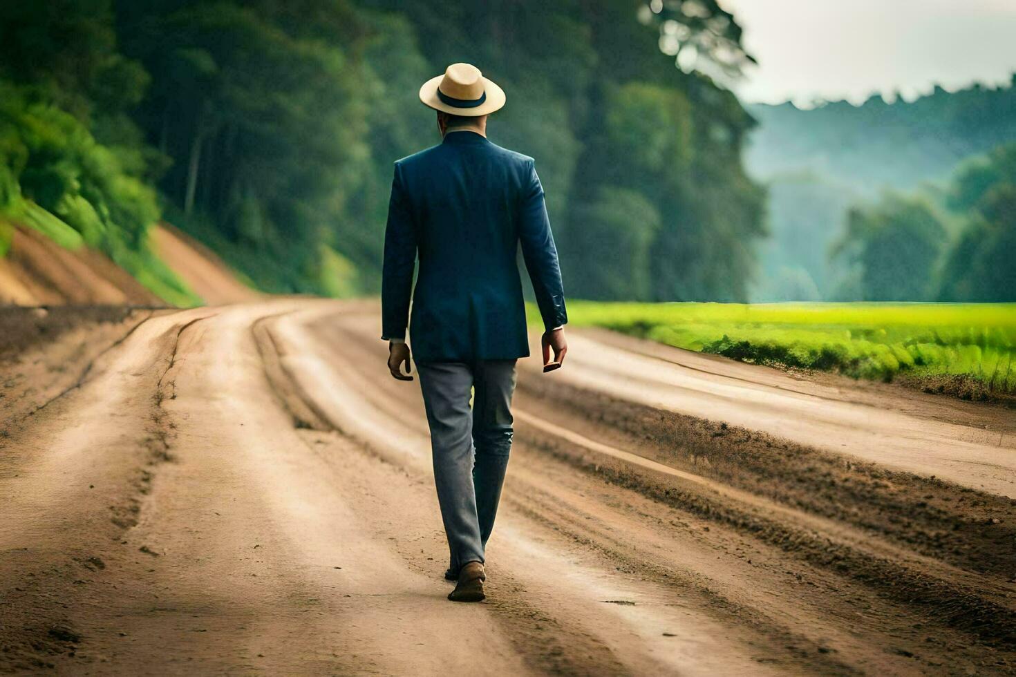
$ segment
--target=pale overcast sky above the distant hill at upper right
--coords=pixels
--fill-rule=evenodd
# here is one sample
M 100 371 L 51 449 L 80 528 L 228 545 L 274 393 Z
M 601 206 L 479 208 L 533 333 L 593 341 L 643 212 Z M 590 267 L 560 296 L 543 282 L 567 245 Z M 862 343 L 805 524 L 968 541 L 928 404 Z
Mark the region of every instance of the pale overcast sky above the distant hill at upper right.
M 744 26 L 758 69 L 746 101 L 807 105 L 911 98 L 936 83 L 1008 82 L 1016 71 L 1016 0 L 720 0 Z

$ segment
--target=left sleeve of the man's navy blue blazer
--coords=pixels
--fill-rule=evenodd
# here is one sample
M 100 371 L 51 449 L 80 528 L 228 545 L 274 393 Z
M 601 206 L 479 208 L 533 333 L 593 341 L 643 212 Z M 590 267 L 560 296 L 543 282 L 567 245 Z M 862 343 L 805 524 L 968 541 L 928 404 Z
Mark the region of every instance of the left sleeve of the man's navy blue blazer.
M 405 339 L 417 262 L 417 228 L 398 163 L 391 182 L 381 273 L 381 338 Z

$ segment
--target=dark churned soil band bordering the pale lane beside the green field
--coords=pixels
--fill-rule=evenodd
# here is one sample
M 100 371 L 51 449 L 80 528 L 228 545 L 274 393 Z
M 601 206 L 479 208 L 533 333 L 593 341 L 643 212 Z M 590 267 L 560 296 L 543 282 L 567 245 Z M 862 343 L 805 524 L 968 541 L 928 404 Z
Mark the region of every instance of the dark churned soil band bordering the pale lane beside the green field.
M 1014 499 L 568 384 L 530 379 L 519 391 L 523 402 L 557 402 L 547 415 L 566 427 L 598 426 L 610 444 L 666 465 L 852 525 L 978 577 L 1013 577 Z

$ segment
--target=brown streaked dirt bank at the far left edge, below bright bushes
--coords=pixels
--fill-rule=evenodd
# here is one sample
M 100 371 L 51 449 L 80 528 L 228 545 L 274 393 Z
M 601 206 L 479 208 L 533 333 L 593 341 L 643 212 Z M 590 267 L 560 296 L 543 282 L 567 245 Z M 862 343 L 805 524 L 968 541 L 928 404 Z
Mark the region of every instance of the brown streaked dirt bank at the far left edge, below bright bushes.
M 0 303 L 165 306 L 101 252 L 64 249 L 29 228 L 16 228 L 0 259 Z

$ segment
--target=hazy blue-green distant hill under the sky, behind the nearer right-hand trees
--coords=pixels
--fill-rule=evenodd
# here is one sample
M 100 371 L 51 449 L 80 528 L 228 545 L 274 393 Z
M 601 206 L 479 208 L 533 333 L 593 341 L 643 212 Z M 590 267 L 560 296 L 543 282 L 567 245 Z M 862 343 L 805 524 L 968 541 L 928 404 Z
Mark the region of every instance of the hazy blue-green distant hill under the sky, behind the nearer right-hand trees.
M 745 162 L 769 186 L 771 233 L 752 300 L 850 300 L 851 271 L 829 260 L 847 209 L 887 190 L 945 185 L 964 160 L 1016 140 L 1016 75 L 1006 87 L 937 87 L 913 101 L 747 110 L 759 126 Z

